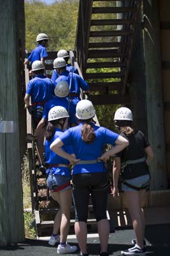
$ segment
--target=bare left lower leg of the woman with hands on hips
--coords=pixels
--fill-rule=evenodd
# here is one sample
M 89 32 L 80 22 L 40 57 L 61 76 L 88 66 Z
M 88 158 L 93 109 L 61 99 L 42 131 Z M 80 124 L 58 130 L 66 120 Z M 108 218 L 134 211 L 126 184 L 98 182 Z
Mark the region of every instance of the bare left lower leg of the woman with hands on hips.
M 87 223 L 84 221 L 76 221 L 74 230 L 81 253 L 87 253 Z

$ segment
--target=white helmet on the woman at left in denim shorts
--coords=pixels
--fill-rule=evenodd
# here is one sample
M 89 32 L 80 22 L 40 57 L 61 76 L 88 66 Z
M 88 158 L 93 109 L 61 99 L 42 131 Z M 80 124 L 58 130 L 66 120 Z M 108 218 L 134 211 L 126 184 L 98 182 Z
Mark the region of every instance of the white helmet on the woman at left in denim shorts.
M 66 118 L 69 117 L 69 114 L 66 110 L 66 108 L 62 106 L 55 106 L 50 109 L 48 112 L 48 122 L 52 120 L 57 120 L 60 118 Z

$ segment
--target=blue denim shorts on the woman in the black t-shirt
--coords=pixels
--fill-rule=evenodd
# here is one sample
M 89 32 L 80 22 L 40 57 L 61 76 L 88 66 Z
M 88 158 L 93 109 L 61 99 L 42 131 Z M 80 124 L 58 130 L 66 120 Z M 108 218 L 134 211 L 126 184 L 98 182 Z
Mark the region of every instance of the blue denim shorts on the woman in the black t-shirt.
M 150 175 L 146 174 L 146 175 L 134 178 L 134 179 L 125 180 L 125 182 L 140 188 L 141 186 L 146 184 L 146 182 L 148 182 L 149 179 L 150 179 Z M 125 184 L 122 183 L 122 191 L 134 191 L 134 192 L 136 192 L 138 190 L 129 188 L 128 186 L 126 186 Z

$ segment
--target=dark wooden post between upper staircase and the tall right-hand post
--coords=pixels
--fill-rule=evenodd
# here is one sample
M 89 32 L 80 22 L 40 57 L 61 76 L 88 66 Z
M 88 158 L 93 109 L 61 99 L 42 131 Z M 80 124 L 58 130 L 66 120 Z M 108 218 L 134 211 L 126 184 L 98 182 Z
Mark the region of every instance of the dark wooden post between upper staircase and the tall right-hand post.
M 128 84 L 129 93 L 131 95 L 131 106 L 129 106 L 129 108 L 131 108 L 133 113 L 133 127 L 141 130 L 147 135 L 146 76 L 143 47 L 143 30 L 140 17 L 129 70 Z

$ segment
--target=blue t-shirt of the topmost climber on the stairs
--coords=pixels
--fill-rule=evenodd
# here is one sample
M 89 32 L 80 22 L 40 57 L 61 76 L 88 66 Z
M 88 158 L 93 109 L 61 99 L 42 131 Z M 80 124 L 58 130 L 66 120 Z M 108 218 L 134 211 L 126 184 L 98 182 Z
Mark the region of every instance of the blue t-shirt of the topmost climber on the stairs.
M 31 52 L 28 57 L 28 60 L 31 61 L 31 65 L 35 60 L 41 60 L 41 58 L 48 57 L 48 53 L 46 52 L 46 48 L 41 44 L 38 44 L 36 48 Z

